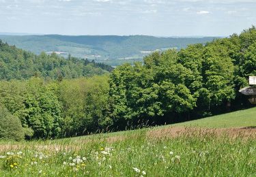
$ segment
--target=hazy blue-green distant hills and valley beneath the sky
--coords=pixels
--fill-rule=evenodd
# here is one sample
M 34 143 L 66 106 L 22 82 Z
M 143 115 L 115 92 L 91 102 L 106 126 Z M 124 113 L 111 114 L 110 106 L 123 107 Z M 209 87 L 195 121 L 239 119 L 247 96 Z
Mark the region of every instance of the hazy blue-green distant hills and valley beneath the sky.
M 0 35 L 0 39 L 40 54 L 68 52 L 74 57 L 104 61 L 119 65 L 124 61 L 138 61 L 155 50 L 186 48 L 188 44 L 205 44 L 216 37 L 152 37 L 147 35 Z M 120 62 L 120 59 L 122 62 Z M 111 61 L 110 61 L 111 60 Z

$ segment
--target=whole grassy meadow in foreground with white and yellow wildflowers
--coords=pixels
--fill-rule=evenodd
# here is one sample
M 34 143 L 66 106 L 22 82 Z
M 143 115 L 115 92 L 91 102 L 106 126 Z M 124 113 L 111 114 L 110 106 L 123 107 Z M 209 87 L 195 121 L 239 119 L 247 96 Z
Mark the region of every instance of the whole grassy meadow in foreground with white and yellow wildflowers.
M 256 108 L 79 138 L 0 143 L 0 176 L 256 176 Z

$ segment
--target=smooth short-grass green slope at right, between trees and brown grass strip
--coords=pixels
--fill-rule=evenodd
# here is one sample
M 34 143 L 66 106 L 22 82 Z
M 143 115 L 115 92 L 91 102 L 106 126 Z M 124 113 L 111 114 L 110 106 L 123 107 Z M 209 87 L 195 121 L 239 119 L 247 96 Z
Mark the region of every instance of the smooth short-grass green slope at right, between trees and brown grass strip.
M 171 126 L 183 127 L 214 127 L 214 128 L 229 128 L 229 127 L 251 127 L 256 126 L 256 108 L 248 110 L 240 110 L 228 114 L 201 118 L 199 120 L 187 121 L 185 123 L 177 123 Z

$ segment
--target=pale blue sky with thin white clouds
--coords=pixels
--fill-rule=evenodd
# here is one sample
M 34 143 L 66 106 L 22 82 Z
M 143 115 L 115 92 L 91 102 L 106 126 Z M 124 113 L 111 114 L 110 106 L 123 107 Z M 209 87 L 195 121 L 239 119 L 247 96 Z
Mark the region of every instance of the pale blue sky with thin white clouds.
M 228 36 L 256 25 L 256 0 L 0 0 L 0 31 Z

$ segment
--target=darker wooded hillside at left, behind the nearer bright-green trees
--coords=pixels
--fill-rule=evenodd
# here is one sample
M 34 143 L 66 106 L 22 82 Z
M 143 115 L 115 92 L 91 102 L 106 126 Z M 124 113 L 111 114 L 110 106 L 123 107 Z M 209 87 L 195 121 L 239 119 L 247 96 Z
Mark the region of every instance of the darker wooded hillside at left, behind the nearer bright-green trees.
M 102 68 L 102 69 L 101 69 Z M 32 76 L 62 79 L 94 76 L 111 71 L 102 63 L 89 62 L 74 57 L 64 59 L 53 53 L 35 55 L 4 44 L 0 40 L 0 80 L 27 79 Z

